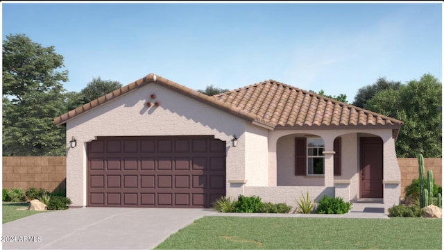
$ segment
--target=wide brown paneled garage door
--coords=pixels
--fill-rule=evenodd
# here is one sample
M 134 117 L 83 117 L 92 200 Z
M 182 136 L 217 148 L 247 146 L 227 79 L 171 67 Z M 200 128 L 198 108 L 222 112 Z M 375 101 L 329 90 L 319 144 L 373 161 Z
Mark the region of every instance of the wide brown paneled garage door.
M 87 144 L 87 206 L 209 208 L 225 195 L 214 136 L 106 137 Z

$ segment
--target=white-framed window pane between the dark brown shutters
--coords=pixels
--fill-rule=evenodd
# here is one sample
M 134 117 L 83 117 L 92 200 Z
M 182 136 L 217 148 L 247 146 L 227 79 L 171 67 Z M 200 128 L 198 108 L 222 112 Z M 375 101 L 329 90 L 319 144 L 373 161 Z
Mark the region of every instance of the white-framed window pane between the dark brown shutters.
M 307 173 L 324 174 L 324 140 L 307 138 Z

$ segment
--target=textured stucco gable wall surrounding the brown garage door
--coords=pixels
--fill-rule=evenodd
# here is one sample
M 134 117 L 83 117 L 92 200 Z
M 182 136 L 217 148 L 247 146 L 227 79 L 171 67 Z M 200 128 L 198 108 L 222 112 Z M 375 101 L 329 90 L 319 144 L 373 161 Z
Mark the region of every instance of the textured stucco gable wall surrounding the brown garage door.
M 150 95 L 155 94 L 151 100 Z M 158 101 L 159 107 L 146 107 Z M 214 135 L 227 142 L 227 180 L 245 179 L 246 120 L 230 115 L 157 83 L 124 94 L 67 122 L 67 195 L 72 206 L 86 206 L 86 143 L 97 136 Z M 231 147 L 233 135 L 237 147 Z M 230 185 L 227 194 L 230 194 Z

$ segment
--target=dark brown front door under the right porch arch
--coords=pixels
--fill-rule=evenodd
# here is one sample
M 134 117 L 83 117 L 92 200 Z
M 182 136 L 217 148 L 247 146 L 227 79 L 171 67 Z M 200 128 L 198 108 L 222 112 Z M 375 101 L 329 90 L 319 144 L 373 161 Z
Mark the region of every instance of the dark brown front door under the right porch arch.
M 382 139 L 361 138 L 361 198 L 382 198 Z

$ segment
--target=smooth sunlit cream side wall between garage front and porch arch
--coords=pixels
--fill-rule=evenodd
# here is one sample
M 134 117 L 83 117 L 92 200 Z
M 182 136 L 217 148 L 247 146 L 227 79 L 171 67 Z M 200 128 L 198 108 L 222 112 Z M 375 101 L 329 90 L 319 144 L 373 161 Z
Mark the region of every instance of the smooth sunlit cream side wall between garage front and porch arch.
M 246 186 L 268 186 L 268 130 L 246 124 Z

